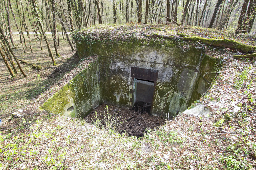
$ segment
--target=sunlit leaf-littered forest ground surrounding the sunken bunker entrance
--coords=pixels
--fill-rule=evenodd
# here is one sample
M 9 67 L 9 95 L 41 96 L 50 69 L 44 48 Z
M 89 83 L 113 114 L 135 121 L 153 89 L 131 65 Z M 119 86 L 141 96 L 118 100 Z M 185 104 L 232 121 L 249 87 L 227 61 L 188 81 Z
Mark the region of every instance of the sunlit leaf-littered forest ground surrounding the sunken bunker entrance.
M 157 26 L 164 28 L 164 26 Z M 201 37 L 222 37 L 212 29 L 170 26 L 164 29 Z M 229 36 L 232 33 L 226 33 Z M 225 37 L 225 38 L 226 38 Z M 236 40 L 255 45 L 255 34 Z M 49 35 L 53 48 L 53 40 Z M 255 62 L 233 59 L 227 50 L 222 55 L 223 68 L 216 72 L 207 93 L 195 102 L 210 108 L 210 117 L 180 114 L 164 125 L 148 130 L 144 137 L 118 133 L 112 122 L 104 128 L 86 123 L 86 119 L 62 117 L 38 110 L 38 107 L 67 84 L 94 57 L 79 60 L 68 43 L 60 40 L 61 57 L 51 66 L 48 51 L 32 41 L 34 53 L 23 54 L 15 35 L 17 58 L 41 65 L 33 70 L 22 64 L 27 74 L 18 71 L 10 78 L 0 59 L 0 169 L 255 169 L 256 168 L 256 87 Z M 27 44 L 28 45 L 28 44 Z M 217 51 L 211 56 L 220 55 Z M 247 97 L 246 97 L 247 96 Z M 230 119 L 218 118 L 241 99 L 240 111 L 231 108 Z M 104 112 L 104 105 L 98 112 Z M 112 109 L 112 106 L 109 106 Z M 237 107 L 235 107 L 237 108 Z M 23 118 L 13 118 L 18 112 Z M 115 109 L 115 108 L 113 108 Z M 127 117 L 128 118 L 128 117 Z M 130 118 L 130 117 L 129 117 Z

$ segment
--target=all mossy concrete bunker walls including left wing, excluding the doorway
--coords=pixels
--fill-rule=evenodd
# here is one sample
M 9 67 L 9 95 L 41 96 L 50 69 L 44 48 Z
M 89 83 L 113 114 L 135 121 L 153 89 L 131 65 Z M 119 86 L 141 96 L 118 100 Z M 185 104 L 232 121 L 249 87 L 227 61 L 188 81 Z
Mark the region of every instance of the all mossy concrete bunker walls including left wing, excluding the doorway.
M 170 118 L 206 92 L 210 84 L 205 79 L 214 77 L 207 73 L 214 70 L 216 63 L 204 54 L 201 46 L 177 41 L 90 45 L 82 42 L 77 44 L 77 53 L 80 58 L 91 55 L 98 58 L 49 99 L 42 106 L 45 110 L 67 114 L 66 109 L 73 104 L 73 115 L 84 116 L 100 103 L 130 108 L 130 71 L 131 67 L 139 67 L 158 70 L 152 114 Z

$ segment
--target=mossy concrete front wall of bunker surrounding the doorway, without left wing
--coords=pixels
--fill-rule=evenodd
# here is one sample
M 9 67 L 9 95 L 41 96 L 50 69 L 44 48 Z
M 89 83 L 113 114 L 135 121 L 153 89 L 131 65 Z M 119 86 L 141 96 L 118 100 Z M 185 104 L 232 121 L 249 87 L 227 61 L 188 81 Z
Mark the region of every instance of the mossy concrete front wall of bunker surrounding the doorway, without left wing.
M 202 47 L 175 41 L 95 43 L 89 48 L 81 43 L 78 54 L 98 55 L 102 102 L 124 108 L 131 105 L 131 67 L 159 70 L 152 114 L 170 117 L 186 110 L 209 87 L 195 68 L 210 80 L 213 75 L 206 72 L 212 72 L 216 62 Z

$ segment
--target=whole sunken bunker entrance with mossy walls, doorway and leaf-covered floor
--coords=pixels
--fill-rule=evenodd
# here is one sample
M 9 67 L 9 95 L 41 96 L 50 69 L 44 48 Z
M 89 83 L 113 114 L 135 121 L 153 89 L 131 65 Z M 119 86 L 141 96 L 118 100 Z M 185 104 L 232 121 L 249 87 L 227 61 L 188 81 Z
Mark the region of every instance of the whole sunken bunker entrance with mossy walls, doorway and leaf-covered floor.
M 120 133 L 140 137 L 146 128 L 164 124 L 165 118 L 175 117 L 200 99 L 215 77 L 211 73 L 218 70 L 216 63 L 220 63 L 205 55 L 201 46 L 189 44 L 124 43 L 112 46 L 112 51 L 110 47 L 97 46 L 97 50 L 104 49 L 104 55 L 95 58 L 41 108 L 84 117 L 91 123 L 100 120 L 104 128 L 110 124 Z

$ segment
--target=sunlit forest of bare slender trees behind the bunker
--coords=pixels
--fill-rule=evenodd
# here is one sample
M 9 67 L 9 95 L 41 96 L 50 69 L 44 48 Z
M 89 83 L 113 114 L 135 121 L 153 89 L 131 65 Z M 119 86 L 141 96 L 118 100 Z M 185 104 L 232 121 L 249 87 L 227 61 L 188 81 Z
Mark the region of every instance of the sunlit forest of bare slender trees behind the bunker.
M 256 0 L 0 0 L 0 53 L 11 74 L 23 72 L 12 49 L 13 34 L 19 34 L 24 53 L 33 53 L 31 39 L 47 44 L 56 65 L 59 37 L 67 39 L 72 51 L 75 30 L 96 24 L 176 24 L 223 31 L 250 33 L 255 30 Z M 54 40 L 54 52 L 46 32 Z M 59 34 L 60 33 L 60 34 Z M 28 42 L 26 42 L 26 38 Z M 8 62 L 9 60 L 9 62 Z M 12 68 L 11 68 L 11 66 Z

